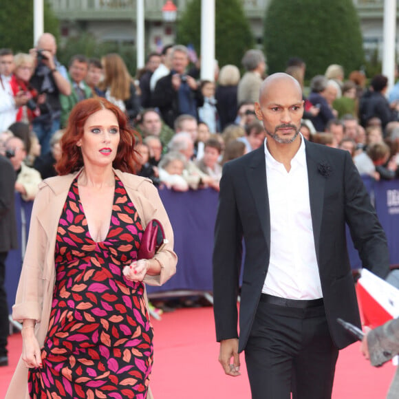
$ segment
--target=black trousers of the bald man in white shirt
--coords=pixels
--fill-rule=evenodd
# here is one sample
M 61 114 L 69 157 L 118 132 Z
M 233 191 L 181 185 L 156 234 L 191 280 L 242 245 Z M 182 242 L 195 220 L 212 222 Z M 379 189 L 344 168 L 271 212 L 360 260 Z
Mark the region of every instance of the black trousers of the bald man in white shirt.
M 252 399 L 330 399 L 338 349 L 322 300 L 304 308 L 262 294 L 245 349 Z

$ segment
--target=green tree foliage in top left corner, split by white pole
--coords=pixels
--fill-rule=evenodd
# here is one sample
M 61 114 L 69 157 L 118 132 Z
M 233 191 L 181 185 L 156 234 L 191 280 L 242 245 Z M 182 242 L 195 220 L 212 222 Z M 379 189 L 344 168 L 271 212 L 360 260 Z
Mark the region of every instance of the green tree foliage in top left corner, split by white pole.
M 7 0 L 1 2 L 0 12 L 0 47 L 14 52 L 28 52 L 33 43 L 33 1 Z M 44 31 L 58 39 L 59 24 L 52 8 L 44 1 Z

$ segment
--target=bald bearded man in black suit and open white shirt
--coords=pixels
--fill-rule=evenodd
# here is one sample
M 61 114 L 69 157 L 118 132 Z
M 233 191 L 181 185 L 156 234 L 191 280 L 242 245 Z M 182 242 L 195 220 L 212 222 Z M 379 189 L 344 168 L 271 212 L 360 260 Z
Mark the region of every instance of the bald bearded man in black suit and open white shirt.
M 263 81 L 265 145 L 224 166 L 213 254 L 219 361 L 239 376 L 245 351 L 252 399 L 331 398 L 338 349 L 360 326 L 345 223 L 365 268 L 385 278 L 387 240 L 347 151 L 299 133 L 303 100 L 287 74 Z M 244 237 L 237 333 L 237 295 Z M 233 359 L 233 360 L 232 360 Z

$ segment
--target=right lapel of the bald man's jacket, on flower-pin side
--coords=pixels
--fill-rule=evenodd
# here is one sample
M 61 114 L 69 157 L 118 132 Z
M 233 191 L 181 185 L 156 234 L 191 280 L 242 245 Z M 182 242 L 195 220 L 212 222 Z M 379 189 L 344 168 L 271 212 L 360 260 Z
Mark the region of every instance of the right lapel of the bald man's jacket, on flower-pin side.
M 306 141 L 306 164 L 308 167 L 308 184 L 309 184 L 309 200 L 310 213 L 312 215 L 312 227 L 314 236 L 314 247 L 316 249 L 316 257 L 319 263 L 319 248 L 320 248 L 320 232 L 321 219 L 323 214 L 325 177 L 319 173 L 318 164 L 321 160 L 317 157 L 314 151 L 314 145 Z

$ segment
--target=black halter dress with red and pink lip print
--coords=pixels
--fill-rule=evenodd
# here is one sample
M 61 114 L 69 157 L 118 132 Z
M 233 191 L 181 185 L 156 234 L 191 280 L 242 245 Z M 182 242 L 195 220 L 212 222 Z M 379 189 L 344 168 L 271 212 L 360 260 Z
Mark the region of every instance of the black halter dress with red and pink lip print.
M 58 224 L 50 324 L 43 368 L 30 369 L 31 398 L 147 397 L 153 331 L 144 285 L 122 274 L 137 258 L 142 233 L 116 177 L 108 235 L 94 241 L 74 180 Z

